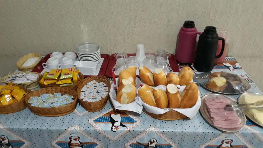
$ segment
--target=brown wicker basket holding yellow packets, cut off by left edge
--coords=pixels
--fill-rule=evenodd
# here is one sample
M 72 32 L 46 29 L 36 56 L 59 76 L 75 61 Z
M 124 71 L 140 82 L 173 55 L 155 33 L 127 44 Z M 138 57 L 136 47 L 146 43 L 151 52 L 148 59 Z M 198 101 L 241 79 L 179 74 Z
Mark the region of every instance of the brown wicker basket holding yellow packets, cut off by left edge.
M 30 93 L 30 90 L 27 90 L 26 88 L 23 88 L 19 86 L 21 89 L 23 89 L 26 93 Z M 26 96 L 24 96 L 22 99 L 18 100 L 17 102 L 11 103 L 9 105 L 1 105 L 0 106 L 0 114 L 10 114 L 13 112 L 18 112 L 27 107 L 26 102 L 24 101 Z

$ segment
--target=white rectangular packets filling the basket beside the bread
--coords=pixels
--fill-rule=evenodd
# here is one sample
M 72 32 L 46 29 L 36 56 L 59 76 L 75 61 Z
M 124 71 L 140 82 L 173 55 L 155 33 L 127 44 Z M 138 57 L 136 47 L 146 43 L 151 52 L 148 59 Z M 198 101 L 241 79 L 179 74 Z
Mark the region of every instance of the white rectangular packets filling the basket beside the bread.
M 96 102 L 105 98 L 108 94 L 109 88 L 104 82 L 98 83 L 93 80 L 84 85 L 81 89 L 80 99 L 88 102 Z

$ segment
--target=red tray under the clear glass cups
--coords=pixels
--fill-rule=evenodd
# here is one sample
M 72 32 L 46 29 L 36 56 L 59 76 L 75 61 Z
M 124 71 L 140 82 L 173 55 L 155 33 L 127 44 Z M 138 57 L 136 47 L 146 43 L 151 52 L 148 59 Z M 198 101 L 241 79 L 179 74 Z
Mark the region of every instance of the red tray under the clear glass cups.
M 136 54 L 127 54 L 128 56 L 135 56 Z M 179 72 L 177 61 L 175 60 L 175 56 L 171 54 L 171 56 L 168 58 L 170 66 L 173 70 L 173 72 Z M 115 66 L 116 60 L 114 58 L 114 54 L 110 56 L 109 65 L 107 67 L 105 76 L 108 78 L 112 78 L 112 68 Z M 116 76 L 118 77 L 118 76 Z M 139 77 L 139 76 L 137 76 Z

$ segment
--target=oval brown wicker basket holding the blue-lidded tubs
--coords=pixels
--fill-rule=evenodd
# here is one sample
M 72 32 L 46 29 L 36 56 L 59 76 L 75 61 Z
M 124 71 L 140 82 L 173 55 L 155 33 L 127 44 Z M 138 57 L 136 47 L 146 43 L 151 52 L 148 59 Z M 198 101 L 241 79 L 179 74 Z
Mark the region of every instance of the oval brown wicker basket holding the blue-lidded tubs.
M 60 107 L 53 107 L 53 108 L 35 107 L 35 106 L 31 106 L 27 102 L 30 97 L 40 96 L 40 95 L 45 94 L 45 93 L 52 93 L 52 94 L 53 93 L 61 93 L 62 95 L 69 94 L 69 95 L 74 96 L 74 98 L 73 98 L 74 101 L 69 103 L 68 105 L 60 106 Z M 76 109 L 77 101 L 78 101 L 78 96 L 77 96 L 76 91 L 69 89 L 69 88 L 60 88 L 60 87 L 42 88 L 40 90 L 36 90 L 36 91 L 29 93 L 25 98 L 25 102 L 26 102 L 28 108 L 34 114 L 39 115 L 39 116 L 49 116 L 49 117 L 63 116 L 63 115 L 67 115 L 67 114 L 73 112 Z

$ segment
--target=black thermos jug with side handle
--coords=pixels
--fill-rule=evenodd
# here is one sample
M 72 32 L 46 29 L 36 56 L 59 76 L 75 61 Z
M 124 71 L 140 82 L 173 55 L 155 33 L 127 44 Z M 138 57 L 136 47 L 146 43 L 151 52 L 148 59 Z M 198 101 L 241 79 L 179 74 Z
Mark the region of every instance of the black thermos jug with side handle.
M 218 40 L 222 40 L 222 49 L 216 56 Z M 194 67 L 200 72 L 209 72 L 214 68 L 215 58 L 222 56 L 225 47 L 225 40 L 218 37 L 216 27 L 206 26 L 204 32 L 199 36 Z

